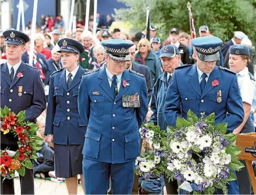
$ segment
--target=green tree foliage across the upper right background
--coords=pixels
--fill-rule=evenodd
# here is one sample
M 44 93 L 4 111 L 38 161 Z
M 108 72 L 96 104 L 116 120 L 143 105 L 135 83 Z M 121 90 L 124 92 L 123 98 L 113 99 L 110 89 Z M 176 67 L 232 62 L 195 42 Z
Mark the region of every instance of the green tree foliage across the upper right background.
M 129 8 L 115 10 L 123 21 L 134 28 L 145 28 L 147 3 L 150 5 L 151 23 L 163 30 L 177 27 L 190 34 L 188 0 L 118 0 Z M 243 31 L 256 42 L 256 0 L 191 0 L 194 23 L 198 28 L 207 25 L 212 34 L 227 41 L 234 31 Z

